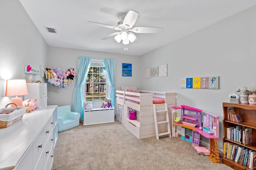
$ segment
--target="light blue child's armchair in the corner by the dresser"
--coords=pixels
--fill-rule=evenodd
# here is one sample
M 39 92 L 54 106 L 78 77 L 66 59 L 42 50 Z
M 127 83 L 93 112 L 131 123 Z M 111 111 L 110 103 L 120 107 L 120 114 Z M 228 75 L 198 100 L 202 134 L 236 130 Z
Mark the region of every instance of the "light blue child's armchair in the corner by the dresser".
M 70 105 L 58 106 L 58 132 L 79 125 L 80 113 L 72 112 Z

